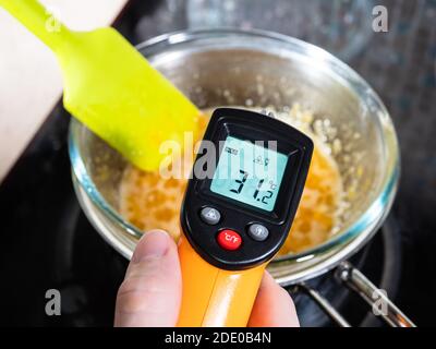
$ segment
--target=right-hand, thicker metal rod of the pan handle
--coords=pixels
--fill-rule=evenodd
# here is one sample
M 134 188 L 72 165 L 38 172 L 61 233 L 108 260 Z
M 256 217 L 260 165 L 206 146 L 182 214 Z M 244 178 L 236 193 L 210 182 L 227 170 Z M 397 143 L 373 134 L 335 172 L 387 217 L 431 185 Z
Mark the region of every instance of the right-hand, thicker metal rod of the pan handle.
M 349 289 L 360 294 L 371 306 L 375 315 L 379 315 L 392 327 L 416 327 L 387 297 L 386 292 L 375 287 L 350 262 L 342 262 L 336 269 L 337 278 Z

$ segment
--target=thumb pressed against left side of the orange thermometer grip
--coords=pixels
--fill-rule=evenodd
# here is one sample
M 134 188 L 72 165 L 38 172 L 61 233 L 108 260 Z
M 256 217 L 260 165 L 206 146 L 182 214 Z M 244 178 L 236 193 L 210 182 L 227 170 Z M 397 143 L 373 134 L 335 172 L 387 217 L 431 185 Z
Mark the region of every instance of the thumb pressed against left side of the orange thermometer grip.
M 138 242 L 116 305 L 116 326 L 175 326 L 182 293 L 177 245 L 161 230 Z

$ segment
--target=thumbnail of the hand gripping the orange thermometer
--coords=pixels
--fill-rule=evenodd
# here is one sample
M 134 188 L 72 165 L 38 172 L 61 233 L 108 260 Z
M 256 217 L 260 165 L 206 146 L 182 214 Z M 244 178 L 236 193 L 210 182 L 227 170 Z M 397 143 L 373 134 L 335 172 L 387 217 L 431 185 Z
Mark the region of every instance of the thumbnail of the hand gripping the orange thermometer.
M 164 230 L 152 230 L 141 239 L 132 261 L 140 262 L 143 258 L 161 257 L 170 245 L 170 237 Z

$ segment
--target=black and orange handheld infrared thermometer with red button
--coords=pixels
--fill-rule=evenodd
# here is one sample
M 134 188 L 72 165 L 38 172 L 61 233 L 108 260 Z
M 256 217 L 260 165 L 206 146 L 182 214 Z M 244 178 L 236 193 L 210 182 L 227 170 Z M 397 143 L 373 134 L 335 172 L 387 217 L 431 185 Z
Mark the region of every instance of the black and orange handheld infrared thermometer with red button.
M 181 209 L 178 326 L 246 326 L 265 267 L 291 228 L 313 147 L 272 117 L 215 110 Z

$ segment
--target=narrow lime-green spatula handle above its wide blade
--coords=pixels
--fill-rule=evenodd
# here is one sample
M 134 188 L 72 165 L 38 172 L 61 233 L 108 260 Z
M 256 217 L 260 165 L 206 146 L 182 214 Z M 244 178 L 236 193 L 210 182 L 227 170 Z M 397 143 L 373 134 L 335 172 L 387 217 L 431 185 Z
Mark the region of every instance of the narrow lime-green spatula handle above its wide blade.
M 55 52 L 69 41 L 68 29 L 37 0 L 0 0 L 0 7 L 41 39 Z

